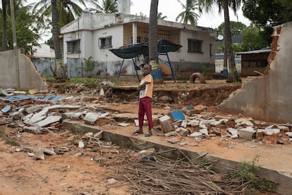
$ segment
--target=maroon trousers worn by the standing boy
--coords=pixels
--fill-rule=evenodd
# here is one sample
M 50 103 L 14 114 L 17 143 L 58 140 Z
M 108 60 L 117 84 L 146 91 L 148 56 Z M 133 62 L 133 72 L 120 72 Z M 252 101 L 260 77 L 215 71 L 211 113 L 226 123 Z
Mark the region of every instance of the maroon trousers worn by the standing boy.
M 151 103 L 152 103 L 152 99 L 150 97 L 144 97 L 144 98 L 139 99 L 138 117 L 139 117 L 140 128 L 143 127 L 145 113 L 147 116 L 149 129 L 151 130 L 153 128 Z

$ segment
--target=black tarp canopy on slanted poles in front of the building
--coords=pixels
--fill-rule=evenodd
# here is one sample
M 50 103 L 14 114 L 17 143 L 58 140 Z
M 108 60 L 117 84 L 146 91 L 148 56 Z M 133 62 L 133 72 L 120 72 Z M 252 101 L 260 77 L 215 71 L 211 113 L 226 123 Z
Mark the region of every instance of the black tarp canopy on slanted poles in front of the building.
M 134 66 L 135 66 L 135 62 L 134 62 L 133 58 L 140 56 L 140 55 L 149 56 L 148 46 L 149 46 L 149 42 L 142 42 L 139 44 L 130 44 L 127 46 L 121 46 L 118 49 L 110 49 L 109 51 L 111 51 L 116 56 L 123 58 L 123 61 L 125 59 L 132 58 L 132 61 L 133 61 Z M 178 49 L 181 48 L 181 45 L 174 44 L 174 43 L 169 42 L 168 40 L 165 40 L 165 39 L 160 39 L 157 43 L 157 46 L 158 46 L 158 48 L 157 48 L 158 54 L 166 55 L 168 61 L 169 61 L 169 56 L 167 53 L 171 52 L 171 51 L 178 51 Z M 169 65 L 171 68 L 171 75 L 175 81 L 174 71 L 172 70 L 170 61 L 169 61 Z M 121 69 L 122 69 L 122 67 L 123 67 L 123 62 L 121 64 Z M 135 68 L 135 71 L 136 71 L 136 75 L 138 77 L 138 80 L 140 80 L 138 73 L 137 73 L 137 68 Z M 121 70 L 118 73 L 118 78 L 119 78 L 120 74 L 121 74 Z

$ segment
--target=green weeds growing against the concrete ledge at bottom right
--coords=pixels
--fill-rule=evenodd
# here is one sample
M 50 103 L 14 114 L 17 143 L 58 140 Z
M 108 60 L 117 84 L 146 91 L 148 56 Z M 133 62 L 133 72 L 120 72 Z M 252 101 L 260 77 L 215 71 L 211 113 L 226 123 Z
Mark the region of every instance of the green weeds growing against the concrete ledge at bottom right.
M 248 191 L 250 193 L 258 193 L 258 191 L 272 191 L 275 183 L 271 182 L 264 177 L 255 174 L 255 171 L 260 170 L 258 162 L 259 156 L 256 156 L 250 162 L 239 163 L 239 168 L 231 171 L 231 178 L 239 178 L 242 182 L 248 182 Z

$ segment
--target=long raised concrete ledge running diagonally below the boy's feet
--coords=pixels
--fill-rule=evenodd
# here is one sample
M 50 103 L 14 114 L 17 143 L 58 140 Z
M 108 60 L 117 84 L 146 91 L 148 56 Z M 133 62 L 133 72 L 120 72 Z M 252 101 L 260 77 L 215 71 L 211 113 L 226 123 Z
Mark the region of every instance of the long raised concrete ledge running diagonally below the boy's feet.
M 85 134 L 87 132 L 99 132 L 101 131 L 99 129 L 100 127 L 93 126 L 93 125 L 85 125 L 84 123 L 80 121 L 74 121 L 74 120 L 64 120 L 63 121 L 63 129 L 69 130 L 75 134 Z M 153 141 L 152 139 L 138 139 L 138 137 L 129 137 L 124 134 L 119 134 L 117 132 L 111 132 L 108 130 L 103 130 L 102 139 L 104 141 L 111 141 L 112 143 L 120 146 L 124 149 L 137 149 L 137 150 L 143 150 L 143 149 L 150 149 L 154 148 L 157 152 L 162 151 L 169 151 L 166 153 L 163 153 L 164 156 L 167 156 L 168 158 L 177 158 L 178 156 L 185 155 L 188 156 L 190 159 L 197 158 L 200 156 L 199 153 L 196 153 L 195 151 L 190 151 L 187 149 L 181 149 L 180 147 L 175 146 L 168 146 L 162 143 L 159 143 L 157 141 Z M 178 149 L 178 150 L 175 150 Z M 179 150 L 181 150 L 183 153 L 181 153 Z M 226 158 L 221 158 L 219 156 L 209 155 L 207 154 L 204 158 L 206 158 L 208 161 L 212 162 L 214 165 L 214 169 L 217 170 L 217 172 L 226 172 L 227 170 L 230 170 L 231 168 L 238 168 L 238 163 L 236 161 L 231 161 Z M 292 191 L 292 178 L 288 177 L 286 175 L 282 175 L 277 170 L 270 170 L 267 168 L 260 168 L 260 170 L 257 170 L 257 175 L 260 175 L 267 180 L 271 180 L 273 182 L 277 183 L 277 187 L 275 189 L 275 192 L 277 194 L 283 194 L 283 195 L 290 195 Z

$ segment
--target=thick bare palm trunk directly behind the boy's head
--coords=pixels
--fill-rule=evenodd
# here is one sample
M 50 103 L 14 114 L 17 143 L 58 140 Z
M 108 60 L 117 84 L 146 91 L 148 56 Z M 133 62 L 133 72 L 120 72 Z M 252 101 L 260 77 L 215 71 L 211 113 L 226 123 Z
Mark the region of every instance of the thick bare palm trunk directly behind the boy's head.
M 159 0 L 151 0 L 149 18 L 149 63 L 152 70 L 157 70 L 158 65 L 158 29 L 157 29 L 157 8 Z

